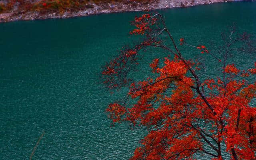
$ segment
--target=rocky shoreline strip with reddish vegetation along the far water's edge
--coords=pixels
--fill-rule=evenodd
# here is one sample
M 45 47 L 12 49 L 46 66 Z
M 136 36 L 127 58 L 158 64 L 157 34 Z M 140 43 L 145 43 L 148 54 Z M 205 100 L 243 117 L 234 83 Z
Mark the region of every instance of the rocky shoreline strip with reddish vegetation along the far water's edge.
M 6 12 L 0 14 L 0 22 L 12 22 L 17 20 L 36 20 L 36 19 L 48 19 L 48 18 L 70 18 L 76 16 L 88 16 L 92 14 L 111 13 L 111 12 L 128 12 L 128 11 L 143 11 L 143 10 L 156 10 L 162 8 L 174 8 L 174 7 L 188 7 L 200 4 L 212 4 L 217 2 L 232 2 L 243 0 L 158 0 L 150 3 L 132 2 L 114 4 L 94 4 L 90 3 L 83 10 L 76 12 L 66 11 L 64 13 L 58 13 L 53 11 L 39 12 L 39 11 L 26 11 L 26 10 L 14 10 L 12 12 Z M 252 0 L 250 0 L 252 1 Z

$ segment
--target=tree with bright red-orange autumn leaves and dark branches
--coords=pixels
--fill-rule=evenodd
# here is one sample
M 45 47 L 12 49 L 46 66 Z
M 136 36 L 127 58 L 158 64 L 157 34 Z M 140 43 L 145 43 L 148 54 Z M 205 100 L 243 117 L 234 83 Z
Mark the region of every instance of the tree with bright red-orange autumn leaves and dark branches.
M 217 53 L 180 38 L 181 46 L 216 59 L 220 75 L 204 79 L 198 72 L 206 64 L 183 57 L 161 14 L 144 14 L 132 24 L 136 29 L 130 34 L 142 36 L 142 41 L 123 49 L 102 72 L 110 89 L 129 87 L 123 102 L 106 109 L 113 123 L 128 121 L 149 129 L 131 160 L 194 160 L 195 155 L 205 154 L 223 160 L 223 152 L 232 160 L 255 160 L 256 62 L 248 70 L 239 70 L 230 61 L 234 52 L 255 53 L 248 34 L 236 34 L 234 28 L 222 33 L 224 45 Z M 134 82 L 128 73 L 149 47 L 163 49 L 167 55 L 150 63 L 153 77 Z

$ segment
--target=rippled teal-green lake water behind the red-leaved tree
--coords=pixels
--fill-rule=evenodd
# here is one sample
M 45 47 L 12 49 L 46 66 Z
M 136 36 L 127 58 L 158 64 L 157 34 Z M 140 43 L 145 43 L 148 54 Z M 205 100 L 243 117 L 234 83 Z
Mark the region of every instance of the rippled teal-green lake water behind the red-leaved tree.
M 159 12 L 176 40 L 184 37 L 194 44 L 218 39 L 233 22 L 256 33 L 256 2 Z M 124 94 L 110 95 L 99 76 L 101 65 L 131 41 L 129 22 L 140 14 L 0 24 L 1 160 L 29 159 L 43 131 L 33 159 L 125 160 L 132 156 L 146 131 L 130 130 L 127 124 L 110 127 L 104 110 Z M 252 66 L 256 58 L 238 55 L 234 60 Z M 214 66 L 204 76 L 214 74 L 213 70 Z

